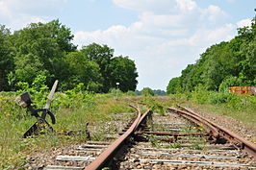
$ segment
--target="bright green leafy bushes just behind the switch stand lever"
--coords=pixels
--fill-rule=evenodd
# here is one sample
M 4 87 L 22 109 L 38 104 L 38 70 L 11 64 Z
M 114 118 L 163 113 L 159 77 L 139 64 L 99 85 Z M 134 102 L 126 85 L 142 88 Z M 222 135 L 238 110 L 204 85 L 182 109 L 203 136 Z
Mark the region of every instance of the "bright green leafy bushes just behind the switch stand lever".
M 37 108 L 43 108 L 46 102 L 46 97 L 49 93 L 49 87 L 45 85 L 46 77 L 38 75 L 33 81 L 32 85 L 28 83 L 17 83 L 17 90 L 15 95 L 20 95 L 23 92 L 29 92 L 34 105 Z M 70 108 L 76 109 L 80 107 L 88 107 L 92 105 L 92 94 L 86 90 L 86 86 L 83 83 L 76 85 L 73 89 L 66 90 L 64 93 L 56 93 L 54 101 L 52 102 L 51 109 L 57 111 L 59 109 Z

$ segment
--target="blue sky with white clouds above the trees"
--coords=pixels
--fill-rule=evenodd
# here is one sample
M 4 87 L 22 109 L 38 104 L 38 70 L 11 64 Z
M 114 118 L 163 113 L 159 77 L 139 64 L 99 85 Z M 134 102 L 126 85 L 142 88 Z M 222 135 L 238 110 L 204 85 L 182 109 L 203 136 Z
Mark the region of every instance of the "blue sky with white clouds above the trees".
M 138 89 L 166 89 L 207 47 L 249 25 L 255 8 L 255 0 L 0 0 L 0 24 L 59 18 L 79 47 L 107 44 L 135 61 Z

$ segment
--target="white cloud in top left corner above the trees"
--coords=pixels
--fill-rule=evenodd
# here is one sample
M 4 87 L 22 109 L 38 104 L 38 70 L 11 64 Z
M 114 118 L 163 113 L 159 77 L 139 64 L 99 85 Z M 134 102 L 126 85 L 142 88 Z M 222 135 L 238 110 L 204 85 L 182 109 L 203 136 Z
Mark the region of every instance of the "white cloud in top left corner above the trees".
M 14 30 L 31 22 L 45 22 L 52 14 L 60 11 L 60 4 L 67 0 L 0 0 L 1 24 Z

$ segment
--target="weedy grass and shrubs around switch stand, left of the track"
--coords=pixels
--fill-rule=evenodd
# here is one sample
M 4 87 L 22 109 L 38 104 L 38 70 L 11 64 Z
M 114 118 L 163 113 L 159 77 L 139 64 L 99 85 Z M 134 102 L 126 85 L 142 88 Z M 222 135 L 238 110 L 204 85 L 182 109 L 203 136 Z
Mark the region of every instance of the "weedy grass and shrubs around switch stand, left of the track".
M 85 125 L 89 123 L 90 137 L 93 140 L 106 140 L 103 134 L 116 133 L 118 129 L 112 120 L 128 120 L 134 109 L 128 107 L 130 100 L 116 100 L 113 94 L 92 94 L 85 91 L 84 84 L 73 89 L 57 92 L 51 105 L 57 123 L 52 125 L 56 133 L 40 134 L 22 138 L 22 134 L 35 123 L 36 118 L 26 109 L 14 103 L 17 95 L 24 91 L 31 94 L 34 107 L 39 109 L 45 104 L 49 88 L 44 84 L 46 77 L 38 75 L 31 85 L 19 83 L 16 92 L 0 93 L 0 169 L 22 169 L 34 153 L 47 152 L 74 142 L 88 140 Z M 119 96 L 122 97 L 122 96 Z M 131 113 L 118 116 L 119 113 Z M 117 115 L 117 119 L 114 118 Z M 49 121 L 50 122 L 50 121 Z M 60 135 L 71 132 L 71 135 Z M 73 132 L 77 132 L 74 133 Z M 24 169 L 24 167 L 23 167 Z M 25 168 L 26 169 L 26 168 Z

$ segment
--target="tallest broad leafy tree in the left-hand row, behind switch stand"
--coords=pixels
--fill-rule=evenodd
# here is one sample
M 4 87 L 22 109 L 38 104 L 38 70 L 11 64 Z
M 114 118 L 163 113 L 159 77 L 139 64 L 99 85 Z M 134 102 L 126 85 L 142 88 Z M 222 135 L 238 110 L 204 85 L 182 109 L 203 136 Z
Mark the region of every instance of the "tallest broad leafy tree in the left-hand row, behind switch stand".
M 13 34 L 14 75 L 17 81 L 32 83 L 38 74 L 47 77 L 50 84 L 64 77 L 65 53 L 74 51 L 73 36 L 68 28 L 53 20 L 32 23 Z M 62 80 L 61 80 L 62 82 Z

